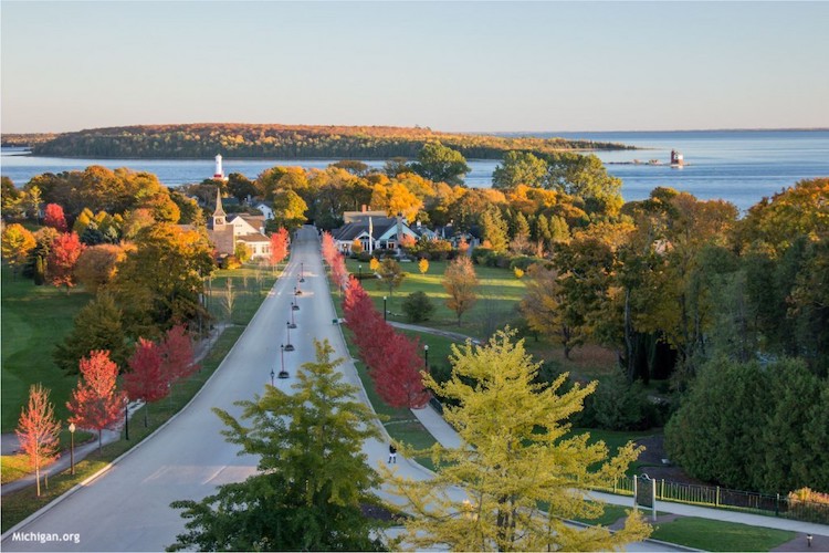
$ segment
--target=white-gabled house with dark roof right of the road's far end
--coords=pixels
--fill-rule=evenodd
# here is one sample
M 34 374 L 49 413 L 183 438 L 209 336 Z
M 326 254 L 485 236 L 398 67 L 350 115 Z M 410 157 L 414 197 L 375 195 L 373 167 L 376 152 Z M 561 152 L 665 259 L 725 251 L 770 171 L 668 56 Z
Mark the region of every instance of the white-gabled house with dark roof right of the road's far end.
M 378 215 L 379 213 L 379 215 Z M 345 225 L 332 231 L 337 249 L 345 253 L 351 252 L 355 240 L 359 240 L 363 250 L 395 250 L 400 246 L 400 238 L 409 236 L 414 240 L 420 238 L 401 216 L 386 217 L 385 211 L 346 211 L 343 213 Z

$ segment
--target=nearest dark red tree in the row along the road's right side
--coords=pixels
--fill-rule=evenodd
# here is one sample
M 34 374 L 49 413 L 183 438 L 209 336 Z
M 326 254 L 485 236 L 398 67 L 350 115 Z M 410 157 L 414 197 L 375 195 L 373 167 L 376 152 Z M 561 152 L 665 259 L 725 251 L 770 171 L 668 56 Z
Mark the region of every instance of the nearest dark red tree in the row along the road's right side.
M 423 387 L 423 362 L 418 356 L 418 341 L 392 332 L 382 349 L 371 371 L 377 394 L 391 407 L 419 409 L 426 406 L 429 392 Z

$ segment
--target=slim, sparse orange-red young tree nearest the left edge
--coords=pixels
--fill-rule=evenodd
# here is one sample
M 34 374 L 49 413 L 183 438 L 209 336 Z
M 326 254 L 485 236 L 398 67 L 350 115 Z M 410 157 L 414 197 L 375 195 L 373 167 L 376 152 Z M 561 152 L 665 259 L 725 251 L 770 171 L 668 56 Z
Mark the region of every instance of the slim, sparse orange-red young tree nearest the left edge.
M 40 497 L 40 469 L 57 457 L 61 425 L 54 418 L 54 406 L 49 401 L 48 388 L 34 384 L 29 388 L 29 405 L 20 413 L 14 434 L 20 449 L 29 458 L 34 470 L 38 497 Z

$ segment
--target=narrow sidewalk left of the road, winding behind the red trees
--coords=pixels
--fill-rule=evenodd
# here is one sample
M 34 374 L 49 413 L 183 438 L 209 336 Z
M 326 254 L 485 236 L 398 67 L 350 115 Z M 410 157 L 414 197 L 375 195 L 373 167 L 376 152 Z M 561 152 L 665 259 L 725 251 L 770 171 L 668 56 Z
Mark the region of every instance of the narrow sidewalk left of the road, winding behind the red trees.
M 227 327 L 228 327 L 228 324 L 225 323 L 217 324 L 216 327 L 210 333 L 210 336 L 208 336 L 206 340 L 202 340 L 196 345 L 196 347 L 193 348 L 193 359 L 196 361 L 196 363 L 201 362 L 201 359 L 203 359 L 207 356 L 207 354 L 213 347 L 213 344 L 216 343 L 216 341 L 219 340 L 219 336 L 221 335 L 222 332 L 224 332 L 224 328 Z M 129 407 L 127 408 L 127 413 L 129 414 L 130 420 L 135 411 L 141 408 L 143 406 L 144 406 L 143 401 L 133 401 L 129 404 Z M 85 459 L 90 453 L 97 451 L 97 448 L 98 448 L 97 434 L 94 431 L 93 434 L 95 434 L 95 437 L 93 440 L 87 441 L 85 444 L 75 445 L 75 465 L 77 465 L 83 459 Z M 102 434 L 103 446 L 106 446 L 107 444 L 112 444 L 119 439 L 120 439 L 120 427 L 118 427 L 116 430 L 105 429 Z M 2 455 L 13 455 L 20 448 L 18 437 L 14 432 L 3 434 L 1 444 L 2 444 Z M 72 465 L 72 456 L 70 455 L 70 451 L 69 450 L 61 451 L 61 456 L 57 458 L 55 462 L 53 462 L 52 465 L 48 467 L 44 467 L 41 470 L 41 478 L 43 478 L 43 476 L 46 476 L 46 474 L 50 477 L 53 474 L 59 474 L 63 472 L 64 470 L 69 469 L 71 465 Z M 23 488 L 27 488 L 33 484 L 34 484 L 34 473 L 30 473 L 12 482 L 2 484 L 2 487 L 0 487 L 0 495 L 6 495 L 7 493 L 12 493 L 12 492 L 15 492 L 18 490 L 21 490 Z

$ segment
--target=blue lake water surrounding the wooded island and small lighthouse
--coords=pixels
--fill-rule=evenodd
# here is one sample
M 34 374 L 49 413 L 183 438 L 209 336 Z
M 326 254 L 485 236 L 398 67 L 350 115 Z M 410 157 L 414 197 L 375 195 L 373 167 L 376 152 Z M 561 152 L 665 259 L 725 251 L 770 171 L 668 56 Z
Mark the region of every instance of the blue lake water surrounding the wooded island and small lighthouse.
M 649 148 L 596 153 L 607 164 L 608 173 L 622 179 L 626 200 L 647 198 L 653 188 L 665 186 L 700 199 L 725 199 L 745 210 L 764 196 L 772 196 L 798 180 L 829 177 L 829 131 L 536 133 L 526 136 L 586 138 Z M 667 164 L 671 149 L 680 150 L 689 165 L 682 169 L 670 168 Z M 199 182 L 213 175 L 212 159 L 64 159 L 24 154 L 24 150 L 3 148 L 0 156 L 0 171 L 18 186 L 42 173 L 84 169 L 90 165 L 154 173 L 168 186 Z M 659 159 L 665 165 L 616 165 L 633 159 Z M 225 174 L 241 173 L 253 179 L 275 165 L 322 169 L 334 161 L 224 158 L 223 168 Z M 367 164 L 380 168 L 384 163 Z M 497 160 L 473 159 L 469 165 L 472 171 L 466 175 L 468 186 L 491 186 Z

